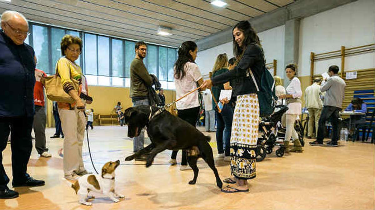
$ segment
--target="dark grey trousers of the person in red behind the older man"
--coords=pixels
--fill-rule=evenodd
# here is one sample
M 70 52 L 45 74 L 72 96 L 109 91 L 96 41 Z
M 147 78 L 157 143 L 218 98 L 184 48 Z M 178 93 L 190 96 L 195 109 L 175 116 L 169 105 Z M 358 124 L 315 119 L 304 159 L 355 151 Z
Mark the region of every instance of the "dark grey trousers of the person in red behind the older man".
M 35 133 L 35 148 L 38 154 L 48 151 L 46 148 L 46 110 L 42 106 L 35 106 L 35 115 L 33 122 Z

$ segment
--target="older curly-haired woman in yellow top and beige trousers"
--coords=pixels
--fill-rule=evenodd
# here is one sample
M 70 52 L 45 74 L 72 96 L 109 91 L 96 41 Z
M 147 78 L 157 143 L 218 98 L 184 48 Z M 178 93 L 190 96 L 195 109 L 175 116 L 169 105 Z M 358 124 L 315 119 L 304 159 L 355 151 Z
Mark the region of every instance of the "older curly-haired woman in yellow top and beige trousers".
M 58 102 L 58 113 L 65 135 L 64 177 L 68 180 L 77 180 L 79 176 L 89 173 L 83 165 L 82 145 L 86 128 L 85 105 L 91 104 L 92 98 L 88 96 L 86 78 L 80 66 L 75 63 L 81 51 L 82 40 L 77 36 L 65 35 L 61 41 L 61 52 L 64 57 L 56 64 L 64 91 L 75 100 L 73 104 Z M 75 89 L 72 79 L 81 82 L 79 90 Z

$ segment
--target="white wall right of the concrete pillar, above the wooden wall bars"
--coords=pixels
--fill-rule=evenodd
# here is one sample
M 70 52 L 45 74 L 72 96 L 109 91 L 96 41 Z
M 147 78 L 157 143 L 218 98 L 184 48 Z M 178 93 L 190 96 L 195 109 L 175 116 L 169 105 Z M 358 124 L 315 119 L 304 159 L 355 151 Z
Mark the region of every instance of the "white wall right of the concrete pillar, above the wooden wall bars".
M 375 42 L 375 0 L 359 0 L 301 20 L 300 76 L 310 75 L 310 52 L 323 53 Z M 341 58 L 315 62 L 315 74 L 330 65 L 341 66 Z M 375 53 L 345 58 L 344 71 L 375 67 Z

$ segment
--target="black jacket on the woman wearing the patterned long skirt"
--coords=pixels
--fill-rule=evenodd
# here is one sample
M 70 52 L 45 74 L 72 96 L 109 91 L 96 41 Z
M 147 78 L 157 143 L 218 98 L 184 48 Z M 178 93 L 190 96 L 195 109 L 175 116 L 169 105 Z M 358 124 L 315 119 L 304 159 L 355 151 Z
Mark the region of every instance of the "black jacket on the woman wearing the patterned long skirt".
M 258 87 L 260 87 L 260 78 L 264 72 L 264 55 L 262 48 L 255 43 L 246 47 L 245 53 L 234 69 L 212 78 L 212 84 L 218 85 L 232 80 L 232 96 L 257 93 L 257 88 L 254 85 L 251 75 L 247 74 L 249 68 L 254 74 Z

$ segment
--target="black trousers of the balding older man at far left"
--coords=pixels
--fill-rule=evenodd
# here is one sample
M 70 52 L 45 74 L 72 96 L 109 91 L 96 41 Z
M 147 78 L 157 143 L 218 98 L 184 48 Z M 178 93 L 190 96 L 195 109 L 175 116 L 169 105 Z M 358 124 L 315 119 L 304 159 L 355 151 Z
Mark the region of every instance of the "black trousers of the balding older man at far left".
M 12 150 L 12 183 L 22 183 L 30 176 L 27 174 L 27 163 L 30 159 L 31 130 L 34 117 L 0 117 L 0 190 L 7 189 L 9 177 L 3 166 L 3 151 L 7 145 L 9 126 L 11 131 L 10 148 Z

